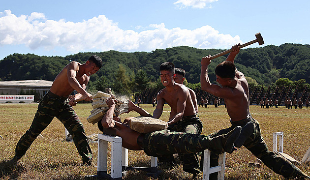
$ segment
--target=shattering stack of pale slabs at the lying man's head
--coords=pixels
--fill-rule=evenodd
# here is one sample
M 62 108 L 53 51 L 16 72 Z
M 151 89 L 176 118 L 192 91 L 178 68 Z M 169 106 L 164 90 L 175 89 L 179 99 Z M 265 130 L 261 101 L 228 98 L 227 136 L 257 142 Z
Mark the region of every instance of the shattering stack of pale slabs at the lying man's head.
M 106 100 L 111 96 L 111 94 L 97 91 L 97 93 L 93 96 L 93 103 L 91 111 L 91 115 L 87 118 L 87 120 L 90 123 L 97 123 L 99 120 L 102 119 L 102 117 L 105 115 L 105 113 L 108 111 L 109 107 L 106 103 Z M 114 95 L 112 95 L 113 98 L 116 99 Z M 119 116 L 123 113 L 126 113 L 128 111 L 128 100 L 119 100 L 116 99 L 117 103 L 114 110 L 114 115 Z

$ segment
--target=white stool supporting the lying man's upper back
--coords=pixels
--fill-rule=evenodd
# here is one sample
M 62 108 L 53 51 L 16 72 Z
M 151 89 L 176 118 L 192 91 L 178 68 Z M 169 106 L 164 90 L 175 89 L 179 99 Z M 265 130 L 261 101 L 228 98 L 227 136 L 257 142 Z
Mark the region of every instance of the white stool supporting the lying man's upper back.
M 107 174 L 108 142 L 111 142 L 111 175 Z M 157 176 L 157 157 L 151 157 L 151 168 L 129 167 L 128 150 L 122 147 L 122 138 L 98 134 L 98 162 L 97 176 L 112 180 L 121 180 L 123 170 L 143 170 L 150 172 L 150 175 Z M 125 172 L 124 172 L 125 173 Z

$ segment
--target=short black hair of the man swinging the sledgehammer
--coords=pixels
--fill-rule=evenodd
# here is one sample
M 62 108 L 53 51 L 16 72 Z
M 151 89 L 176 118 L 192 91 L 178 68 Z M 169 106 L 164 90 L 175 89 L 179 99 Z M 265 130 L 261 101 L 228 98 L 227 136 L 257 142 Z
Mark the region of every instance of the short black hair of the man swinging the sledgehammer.
M 231 61 L 223 61 L 216 67 L 216 75 L 221 78 L 235 78 L 236 66 Z

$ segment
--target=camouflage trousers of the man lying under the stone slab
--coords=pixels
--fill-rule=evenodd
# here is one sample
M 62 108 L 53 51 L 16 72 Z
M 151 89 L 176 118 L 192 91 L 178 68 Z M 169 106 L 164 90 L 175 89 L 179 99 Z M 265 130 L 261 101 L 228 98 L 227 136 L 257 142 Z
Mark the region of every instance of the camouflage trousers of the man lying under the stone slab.
M 223 150 L 221 136 L 171 132 L 168 129 L 141 134 L 137 143 L 147 155 L 154 157 L 174 153 L 195 153 L 206 149 L 218 153 Z

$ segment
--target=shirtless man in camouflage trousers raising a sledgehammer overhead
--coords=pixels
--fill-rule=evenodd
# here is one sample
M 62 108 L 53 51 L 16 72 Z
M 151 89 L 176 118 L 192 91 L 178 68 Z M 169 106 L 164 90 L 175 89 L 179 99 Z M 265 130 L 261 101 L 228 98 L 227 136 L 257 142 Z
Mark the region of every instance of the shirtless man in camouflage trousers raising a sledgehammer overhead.
M 248 82 L 244 74 L 238 71 L 234 65 L 234 59 L 239 53 L 240 44 L 233 46 L 232 49 L 234 51 L 228 55 L 225 61 L 218 64 L 215 70 L 217 82 L 221 86 L 211 84 L 209 80 L 208 65 L 211 63 L 211 56 L 203 57 L 201 60 L 201 88 L 215 96 L 224 98 L 227 106 L 227 113 L 232 124 L 231 127 L 212 133 L 211 136 L 226 134 L 226 132 L 229 132 L 234 127 L 240 125 L 242 126 L 242 131 L 240 137 L 234 144 L 236 147 L 239 148 L 242 145 L 245 146 L 257 158 L 261 159 L 265 165 L 285 178 L 309 178 L 278 152 L 268 150 L 267 145 L 261 136 L 259 123 L 251 117 L 249 112 Z M 210 166 L 217 165 L 217 158 L 217 154 L 212 152 Z M 210 176 L 210 179 L 216 178 L 217 177 L 214 177 L 214 175 L 213 177 Z

